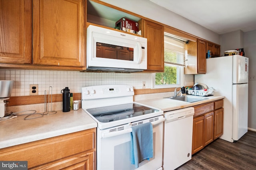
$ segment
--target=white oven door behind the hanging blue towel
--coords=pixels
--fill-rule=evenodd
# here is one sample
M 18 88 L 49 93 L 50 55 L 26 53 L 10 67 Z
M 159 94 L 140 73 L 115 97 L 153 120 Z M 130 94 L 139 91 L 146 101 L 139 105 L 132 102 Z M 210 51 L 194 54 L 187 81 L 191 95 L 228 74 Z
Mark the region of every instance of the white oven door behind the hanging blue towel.
M 164 117 L 158 116 L 142 121 L 153 124 L 153 158 L 140 162 L 137 170 L 156 170 L 162 167 L 162 143 Z M 125 126 L 125 125 L 124 125 Z M 131 128 L 117 126 L 97 131 L 97 170 L 134 170 L 130 161 Z M 118 130 L 123 129 L 123 130 Z M 110 132 L 114 131 L 114 132 Z

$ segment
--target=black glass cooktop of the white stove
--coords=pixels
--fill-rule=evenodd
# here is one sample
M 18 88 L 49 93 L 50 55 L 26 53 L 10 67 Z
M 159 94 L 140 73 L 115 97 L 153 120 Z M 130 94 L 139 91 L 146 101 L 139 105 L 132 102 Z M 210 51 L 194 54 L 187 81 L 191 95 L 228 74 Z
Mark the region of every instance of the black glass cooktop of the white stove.
M 157 109 L 142 106 L 140 104 L 121 104 L 106 107 L 96 107 L 92 109 L 86 109 L 92 116 L 98 121 L 106 123 L 111 121 L 117 121 L 121 119 L 127 119 L 130 117 L 136 117 L 149 113 L 158 112 Z

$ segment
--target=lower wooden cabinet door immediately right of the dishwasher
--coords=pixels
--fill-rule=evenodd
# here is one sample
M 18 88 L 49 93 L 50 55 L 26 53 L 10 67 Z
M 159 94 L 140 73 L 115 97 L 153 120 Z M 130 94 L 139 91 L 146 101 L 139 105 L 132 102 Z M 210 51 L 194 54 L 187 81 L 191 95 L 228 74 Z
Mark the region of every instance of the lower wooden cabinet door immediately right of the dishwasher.
M 204 148 L 204 115 L 193 120 L 192 154 Z

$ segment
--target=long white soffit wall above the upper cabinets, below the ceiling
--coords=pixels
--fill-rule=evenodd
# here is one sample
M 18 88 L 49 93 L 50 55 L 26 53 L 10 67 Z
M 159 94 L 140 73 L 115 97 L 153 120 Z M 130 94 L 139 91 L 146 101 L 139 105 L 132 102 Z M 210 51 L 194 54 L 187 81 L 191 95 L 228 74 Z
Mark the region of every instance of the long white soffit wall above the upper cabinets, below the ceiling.
M 150 0 L 101 0 L 119 8 L 123 8 L 140 16 L 164 23 L 171 27 L 180 29 L 202 39 L 220 44 L 220 37 L 217 33 L 198 25 L 174 12 L 167 10 Z M 184 11 L 185 12 L 185 11 Z

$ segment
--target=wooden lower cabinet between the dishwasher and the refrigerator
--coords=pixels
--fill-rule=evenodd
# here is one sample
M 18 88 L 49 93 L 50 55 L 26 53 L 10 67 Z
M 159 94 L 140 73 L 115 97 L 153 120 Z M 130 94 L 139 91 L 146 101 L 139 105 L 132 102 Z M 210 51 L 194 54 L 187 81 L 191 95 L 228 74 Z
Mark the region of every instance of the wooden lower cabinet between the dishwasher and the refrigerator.
M 192 154 L 223 134 L 223 100 L 194 106 Z

